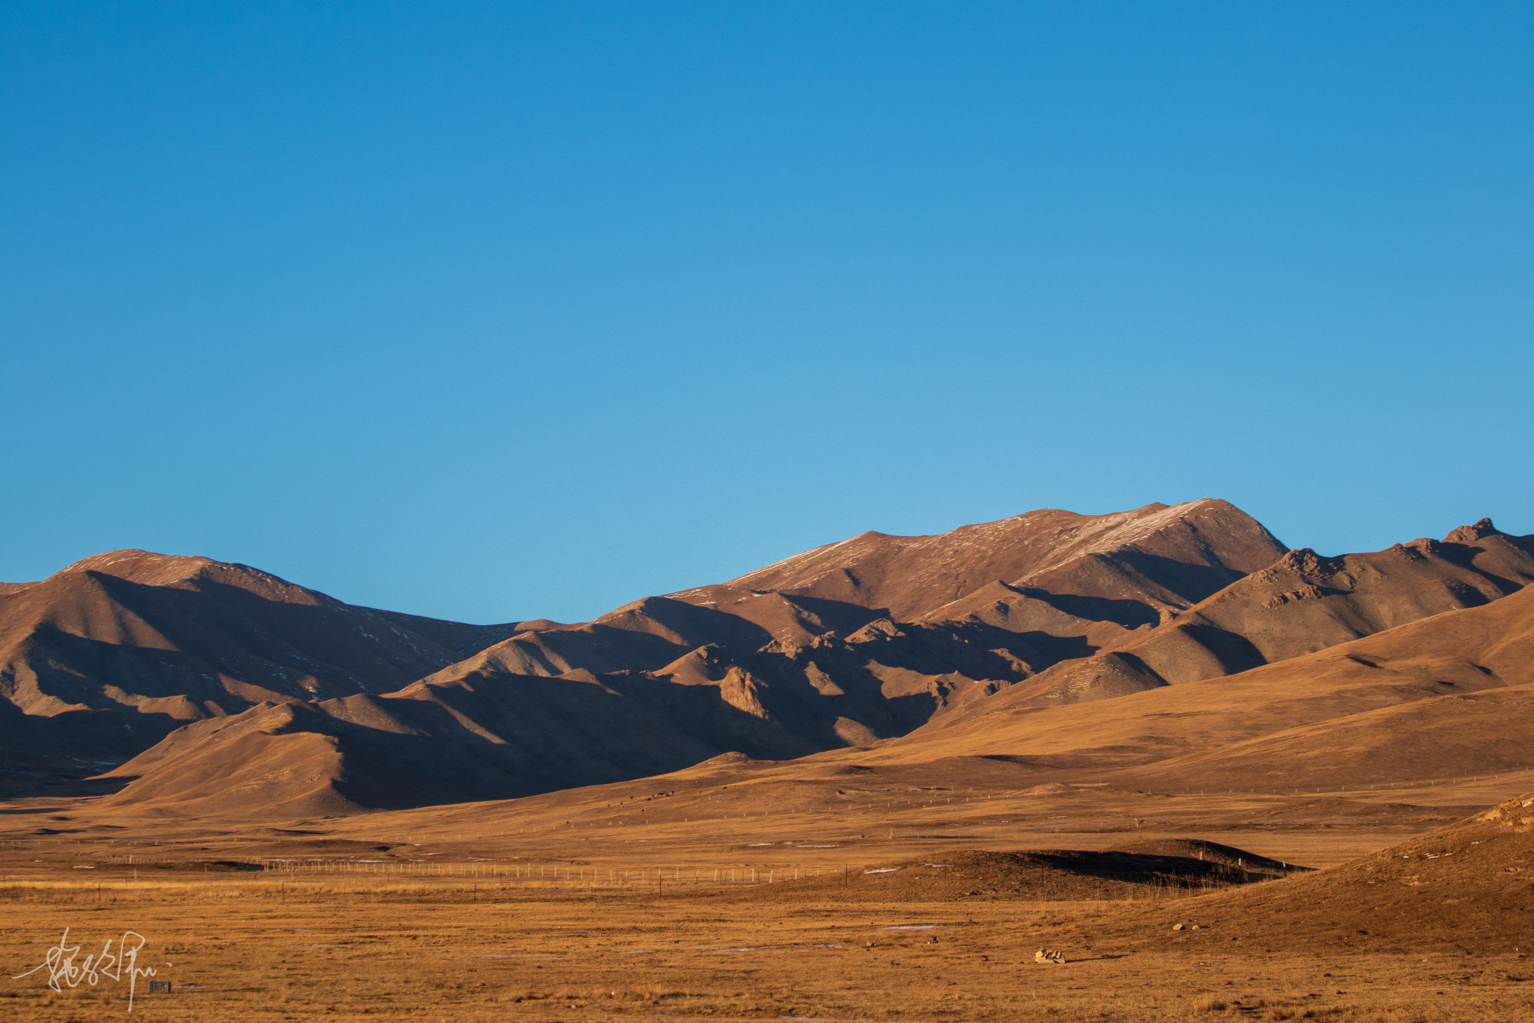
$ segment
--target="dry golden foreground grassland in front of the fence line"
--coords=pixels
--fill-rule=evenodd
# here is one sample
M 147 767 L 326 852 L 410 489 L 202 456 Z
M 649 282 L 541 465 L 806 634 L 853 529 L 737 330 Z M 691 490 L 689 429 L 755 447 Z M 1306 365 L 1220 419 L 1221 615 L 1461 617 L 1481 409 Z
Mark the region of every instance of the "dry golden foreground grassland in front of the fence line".
M 124 929 L 172 980 L 132 1018 L 1528 1020 L 1517 954 L 1221 948 L 1212 896 L 831 902 L 810 883 L 653 893 L 337 877 L 12 882 L 8 972 Z M 1287 883 L 1287 882 L 1267 882 Z M 1164 917 L 1164 919 L 1163 919 Z M 1063 966 L 1034 962 L 1040 946 Z M 0 1015 L 127 1018 L 127 985 L 8 980 Z

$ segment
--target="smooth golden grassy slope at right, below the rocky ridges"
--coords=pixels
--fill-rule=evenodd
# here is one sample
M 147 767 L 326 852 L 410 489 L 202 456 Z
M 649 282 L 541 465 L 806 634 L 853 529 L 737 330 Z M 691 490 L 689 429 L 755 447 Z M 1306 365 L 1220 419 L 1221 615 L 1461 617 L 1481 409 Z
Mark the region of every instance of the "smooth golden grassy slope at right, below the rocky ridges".
M 1534 587 L 1238 675 L 982 701 L 861 756 L 997 756 L 1121 787 L 1325 788 L 1534 767 Z

